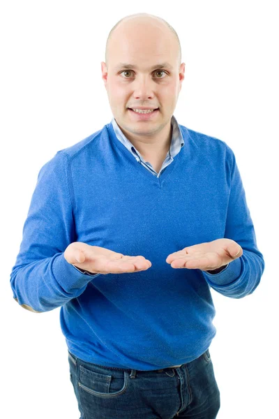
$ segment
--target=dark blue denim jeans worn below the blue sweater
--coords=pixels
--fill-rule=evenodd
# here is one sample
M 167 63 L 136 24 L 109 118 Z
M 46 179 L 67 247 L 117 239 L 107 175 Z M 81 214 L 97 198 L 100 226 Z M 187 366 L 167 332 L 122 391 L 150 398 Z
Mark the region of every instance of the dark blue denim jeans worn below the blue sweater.
M 68 360 L 80 419 L 214 419 L 220 409 L 209 349 L 152 371 L 102 367 L 70 352 Z

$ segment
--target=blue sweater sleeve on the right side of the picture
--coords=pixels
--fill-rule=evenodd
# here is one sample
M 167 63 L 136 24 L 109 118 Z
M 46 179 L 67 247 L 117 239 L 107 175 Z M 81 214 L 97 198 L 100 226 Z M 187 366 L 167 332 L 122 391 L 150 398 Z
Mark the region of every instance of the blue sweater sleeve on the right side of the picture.
M 234 240 L 243 254 L 219 273 L 202 271 L 207 283 L 227 297 L 242 298 L 255 291 L 264 272 L 264 258 L 257 249 L 255 229 L 234 152 L 227 146 L 229 200 L 224 237 Z

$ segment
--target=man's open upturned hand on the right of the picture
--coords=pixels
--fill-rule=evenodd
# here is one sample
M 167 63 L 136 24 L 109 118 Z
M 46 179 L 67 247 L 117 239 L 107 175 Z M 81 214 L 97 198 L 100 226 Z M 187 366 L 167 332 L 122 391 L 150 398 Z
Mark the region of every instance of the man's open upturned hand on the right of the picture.
M 166 262 L 174 268 L 216 270 L 239 258 L 243 250 L 231 239 L 217 239 L 213 242 L 184 247 L 167 256 Z

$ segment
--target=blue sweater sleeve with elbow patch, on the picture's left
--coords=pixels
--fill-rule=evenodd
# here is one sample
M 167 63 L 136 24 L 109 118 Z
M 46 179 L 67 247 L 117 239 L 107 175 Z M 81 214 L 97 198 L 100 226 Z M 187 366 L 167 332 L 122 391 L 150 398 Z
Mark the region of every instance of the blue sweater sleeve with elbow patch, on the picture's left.
M 76 241 L 69 169 L 68 155 L 61 151 L 40 169 L 23 226 L 10 285 L 15 300 L 30 311 L 66 304 L 92 280 L 64 258 L 63 252 Z

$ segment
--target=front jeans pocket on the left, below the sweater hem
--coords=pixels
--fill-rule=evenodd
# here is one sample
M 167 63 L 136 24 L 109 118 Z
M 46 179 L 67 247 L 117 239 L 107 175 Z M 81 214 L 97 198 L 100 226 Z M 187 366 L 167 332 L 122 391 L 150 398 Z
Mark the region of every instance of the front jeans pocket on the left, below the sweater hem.
M 128 387 L 128 372 L 106 374 L 105 372 L 96 372 L 84 365 L 80 365 L 78 385 L 82 398 L 87 399 L 90 395 L 107 398 L 116 397 L 123 394 Z

